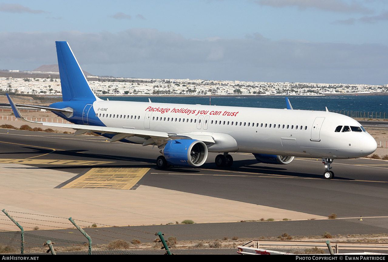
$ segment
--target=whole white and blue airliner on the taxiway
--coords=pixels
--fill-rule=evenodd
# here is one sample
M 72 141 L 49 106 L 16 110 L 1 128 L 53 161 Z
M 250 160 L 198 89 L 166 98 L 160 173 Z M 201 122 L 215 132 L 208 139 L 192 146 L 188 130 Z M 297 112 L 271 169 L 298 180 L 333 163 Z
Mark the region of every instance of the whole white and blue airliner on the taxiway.
M 294 157 L 322 158 L 324 178 L 332 179 L 334 159 L 372 154 L 374 138 L 353 118 L 326 111 L 294 110 L 286 98 L 285 109 L 205 106 L 151 102 L 105 101 L 90 88 L 67 42 L 56 43 L 62 102 L 49 107 L 14 104 L 15 116 L 28 121 L 16 106 L 47 109 L 71 124 L 74 135 L 94 132 L 110 142 L 158 147 L 158 168 L 200 167 L 208 152 L 220 153 L 217 167 L 230 167 L 230 152 L 251 153 L 260 163 L 289 164 Z

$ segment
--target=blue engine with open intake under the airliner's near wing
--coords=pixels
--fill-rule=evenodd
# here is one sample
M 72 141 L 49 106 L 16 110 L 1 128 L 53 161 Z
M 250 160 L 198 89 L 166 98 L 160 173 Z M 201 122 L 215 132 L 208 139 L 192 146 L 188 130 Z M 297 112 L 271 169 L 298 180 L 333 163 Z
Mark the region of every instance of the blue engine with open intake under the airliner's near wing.
M 208 158 L 208 147 L 199 140 L 177 139 L 168 141 L 162 154 L 171 165 L 199 167 Z

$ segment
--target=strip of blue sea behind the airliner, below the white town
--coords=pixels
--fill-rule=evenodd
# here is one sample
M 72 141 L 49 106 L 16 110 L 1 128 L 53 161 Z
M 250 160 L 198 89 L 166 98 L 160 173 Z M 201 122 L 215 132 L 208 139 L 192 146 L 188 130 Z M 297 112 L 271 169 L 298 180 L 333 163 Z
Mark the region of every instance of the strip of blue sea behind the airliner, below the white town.
M 148 102 L 148 97 L 101 97 L 106 100 L 139 101 Z M 208 105 L 210 97 L 174 97 L 174 96 L 150 96 L 152 102 L 177 103 L 177 104 L 203 104 Z M 315 97 L 288 97 L 293 109 L 320 110 L 325 106 L 330 111 L 370 111 L 388 112 L 388 96 L 315 96 Z M 255 108 L 286 108 L 284 96 L 225 96 L 211 97 L 211 105 L 217 106 L 246 106 Z M 338 112 L 339 113 L 339 112 Z

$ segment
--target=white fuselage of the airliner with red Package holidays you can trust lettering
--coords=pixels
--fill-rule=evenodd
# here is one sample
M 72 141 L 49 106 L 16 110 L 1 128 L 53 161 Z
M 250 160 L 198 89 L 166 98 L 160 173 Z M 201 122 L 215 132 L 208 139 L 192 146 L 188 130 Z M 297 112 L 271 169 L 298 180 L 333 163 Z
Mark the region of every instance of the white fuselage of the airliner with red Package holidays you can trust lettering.
M 340 159 L 376 150 L 367 132 L 335 132 L 338 126 L 360 127 L 356 120 L 326 111 L 125 101 L 95 101 L 93 109 L 107 127 L 210 135 L 218 141 L 210 152 Z

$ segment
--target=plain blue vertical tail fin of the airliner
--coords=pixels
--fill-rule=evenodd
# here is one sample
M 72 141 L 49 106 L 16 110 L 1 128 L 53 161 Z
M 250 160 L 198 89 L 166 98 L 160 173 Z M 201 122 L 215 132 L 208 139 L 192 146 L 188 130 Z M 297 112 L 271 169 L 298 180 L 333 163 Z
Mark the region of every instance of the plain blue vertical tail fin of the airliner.
M 56 41 L 55 45 L 57 47 L 63 101 L 87 100 L 91 102 L 99 100 L 90 89 L 68 42 Z

